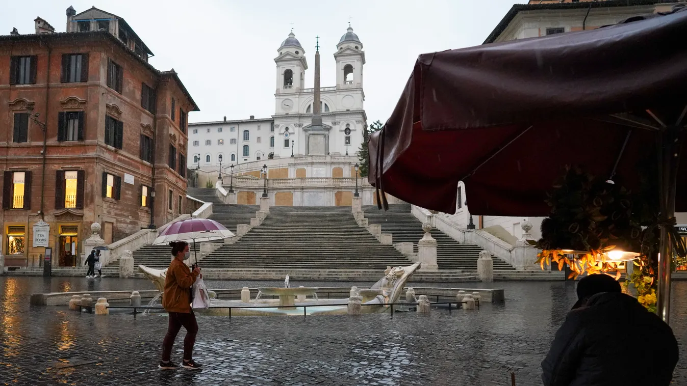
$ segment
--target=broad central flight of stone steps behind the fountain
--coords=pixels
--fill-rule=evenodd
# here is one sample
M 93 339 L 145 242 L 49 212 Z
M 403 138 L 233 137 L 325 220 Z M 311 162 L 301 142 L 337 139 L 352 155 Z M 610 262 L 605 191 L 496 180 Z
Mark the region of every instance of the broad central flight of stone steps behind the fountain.
M 204 268 L 374 270 L 410 265 L 392 245 L 358 226 L 350 206 L 272 206 L 262 224 L 238 243 L 223 245 L 202 261 Z M 381 277 L 381 276 L 379 276 Z

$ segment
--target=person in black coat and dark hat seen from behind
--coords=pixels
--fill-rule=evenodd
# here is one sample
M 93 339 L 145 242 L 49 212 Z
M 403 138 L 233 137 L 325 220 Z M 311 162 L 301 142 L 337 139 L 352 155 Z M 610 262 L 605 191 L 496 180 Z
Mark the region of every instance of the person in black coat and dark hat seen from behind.
M 578 282 L 578 301 L 541 362 L 544 386 L 669 385 L 673 330 L 605 274 Z

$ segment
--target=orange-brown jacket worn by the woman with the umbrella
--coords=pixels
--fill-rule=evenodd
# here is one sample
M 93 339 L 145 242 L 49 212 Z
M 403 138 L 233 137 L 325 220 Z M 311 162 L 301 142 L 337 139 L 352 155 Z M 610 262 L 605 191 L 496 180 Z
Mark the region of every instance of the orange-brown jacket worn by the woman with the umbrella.
M 168 312 L 191 312 L 191 287 L 197 275 L 181 261 L 174 258 L 167 269 L 165 291 L 162 295 L 162 306 Z

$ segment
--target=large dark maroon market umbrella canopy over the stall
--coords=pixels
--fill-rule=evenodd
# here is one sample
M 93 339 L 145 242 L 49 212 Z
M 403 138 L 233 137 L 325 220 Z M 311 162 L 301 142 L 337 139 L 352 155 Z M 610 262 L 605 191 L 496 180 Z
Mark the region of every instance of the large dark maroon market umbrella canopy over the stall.
M 637 165 L 664 129 L 679 127 L 678 143 L 687 137 L 684 36 L 682 9 L 420 55 L 370 138 L 369 181 L 445 213 L 455 213 L 463 181 L 471 213 L 506 216 L 548 215 L 546 192 L 568 164 L 635 189 Z M 686 157 L 677 172 L 676 209 L 687 211 Z

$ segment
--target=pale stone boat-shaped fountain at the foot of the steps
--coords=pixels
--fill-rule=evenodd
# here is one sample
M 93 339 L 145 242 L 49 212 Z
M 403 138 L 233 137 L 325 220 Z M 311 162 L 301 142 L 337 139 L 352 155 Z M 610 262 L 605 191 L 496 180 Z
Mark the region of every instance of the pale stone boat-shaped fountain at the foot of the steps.
M 164 290 L 166 269 L 153 269 L 139 265 L 143 274 L 153 281 L 158 291 Z M 318 299 L 317 288 L 313 287 L 259 287 L 260 293 L 255 299 L 217 300 L 210 301 L 210 309 L 195 310 L 200 315 L 229 315 L 229 308 L 249 307 L 261 308 L 233 308 L 232 316 L 258 315 L 303 315 L 302 306 L 306 306 L 307 315 L 345 315 L 348 313 L 349 303 L 360 313 L 383 313 L 389 311 L 390 303 L 398 302 L 403 293 L 403 287 L 410 276 L 414 274 L 420 263 L 406 267 L 387 267 L 384 277 L 374 283 L 369 289 L 352 287 L 349 298 Z M 261 295 L 276 295 L 279 299 L 260 299 Z M 308 297 L 309 296 L 309 297 Z

